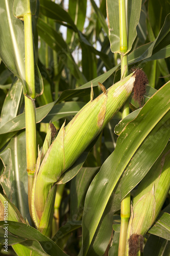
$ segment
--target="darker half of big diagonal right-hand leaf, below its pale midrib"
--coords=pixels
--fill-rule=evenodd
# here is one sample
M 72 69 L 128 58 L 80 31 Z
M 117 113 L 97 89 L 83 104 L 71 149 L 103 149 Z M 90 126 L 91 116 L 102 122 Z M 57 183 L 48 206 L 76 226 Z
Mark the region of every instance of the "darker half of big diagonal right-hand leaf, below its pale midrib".
M 112 217 L 114 212 L 120 209 L 120 201 L 141 181 L 145 174 L 149 172 L 150 168 L 166 146 L 169 139 L 170 113 L 168 112 L 164 118 L 166 118 L 167 122 L 164 122 L 165 119 L 164 121 L 161 119 L 161 121 L 154 127 L 152 132 L 134 154 L 133 159 L 128 164 L 122 178 L 118 181 L 118 185 L 113 190 L 98 225 L 98 229 L 94 234 L 94 238 L 88 250 L 88 255 L 90 255 L 90 253 L 93 254 L 93 250 L 97 251 L 98 255 L 104 253 L 112 232 Z M 158 139 L 155 141 L 155 138 Z M 155 142 L 153 143 L 153 141 Z M 159 150 L 157 150 L 158 146 L 160 147 Z M 145 152 L 145 154 L 143 154 L 143 152 Z M 107 228 L 105 229 L 104 227 Z M 102 232 L 100 230 L 102 230 Z M 99 246 L 101 243 L 103 244 L 103 248 Z

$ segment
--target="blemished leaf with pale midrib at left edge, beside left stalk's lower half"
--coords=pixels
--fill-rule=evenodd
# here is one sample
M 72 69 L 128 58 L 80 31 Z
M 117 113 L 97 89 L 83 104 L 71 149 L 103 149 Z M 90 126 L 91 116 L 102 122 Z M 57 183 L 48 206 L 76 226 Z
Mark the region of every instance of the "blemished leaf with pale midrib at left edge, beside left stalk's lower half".
M 25 132 L 13 137 L 7 147 L 0 153 L 5 170 L 0 177 L 5 194 L 29 221 L 28 176 L 26 166 Z

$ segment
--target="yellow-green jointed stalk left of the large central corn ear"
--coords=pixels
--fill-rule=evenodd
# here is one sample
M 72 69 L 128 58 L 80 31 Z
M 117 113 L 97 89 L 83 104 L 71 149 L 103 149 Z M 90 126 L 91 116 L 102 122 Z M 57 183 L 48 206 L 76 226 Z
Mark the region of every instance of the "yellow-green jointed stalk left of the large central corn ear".
M 35 117 L 35 72 L 34 72 L 34 50 L 32 36 L 32 14 L 36 12 L 36 0 L 14 0 L 14 16 L 23 20 L 25 29 L 25 67 L 26 67 L 26 90 L 25 112 L 26 112 L 26 152 L 28 172 L 28 200 L 31 214 L 31 193 L 36 167 L 36 117 Z

